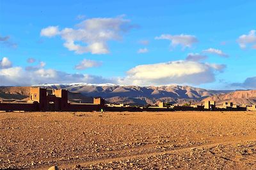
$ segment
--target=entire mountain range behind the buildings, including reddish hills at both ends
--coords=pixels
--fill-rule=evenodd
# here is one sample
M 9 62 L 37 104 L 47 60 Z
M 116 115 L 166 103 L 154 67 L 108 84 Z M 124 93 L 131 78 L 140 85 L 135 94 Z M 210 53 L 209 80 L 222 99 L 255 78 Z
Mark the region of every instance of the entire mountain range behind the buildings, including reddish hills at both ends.
M 256 104 L 256 90 L 206 90 L 182 85 L 126 86 L 115 84 L 43 84 L 33 87 L 67 89 L 73 103 L 92 103 L 93 97 L 103 97 L 107 103 L 125 103 L 145 106 L 164 101 L 170 104 L 201 104 L 205 100 L 234 104 Z M 0 101 L 28 101 L 30 87 L 0 87 Z

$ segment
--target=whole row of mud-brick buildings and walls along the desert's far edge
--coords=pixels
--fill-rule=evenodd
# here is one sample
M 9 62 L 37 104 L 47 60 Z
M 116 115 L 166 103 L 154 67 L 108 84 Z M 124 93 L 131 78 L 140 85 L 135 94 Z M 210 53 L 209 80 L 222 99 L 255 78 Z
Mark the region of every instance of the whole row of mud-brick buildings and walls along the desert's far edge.
M 0 111 L 256 111 L 256 105 L 238 106 L 225 102 L 216 106 L 215 101 L 205 101 L 204 105 L 170 105 L 159 102 L 158 106 L 129 106 L 128 104 L 106 104 L 101 97 L 94 97 L 93 103 L 68 103 L 68 91 L 52 89 L 51 93 L 41 87 L 31 87 L 28 102 L 0 101 Z

